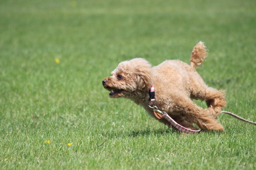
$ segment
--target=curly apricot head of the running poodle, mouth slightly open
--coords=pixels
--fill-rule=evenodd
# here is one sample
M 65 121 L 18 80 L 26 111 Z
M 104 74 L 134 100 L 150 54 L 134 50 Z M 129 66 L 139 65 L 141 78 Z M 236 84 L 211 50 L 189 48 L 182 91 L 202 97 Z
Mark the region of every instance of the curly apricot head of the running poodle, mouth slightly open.
M 119 63 L 111 74 L 102 81 L 111 98 L 129 98 L 138 91 L 148 91 L 152 84 L 151 65 L 142 58 Z

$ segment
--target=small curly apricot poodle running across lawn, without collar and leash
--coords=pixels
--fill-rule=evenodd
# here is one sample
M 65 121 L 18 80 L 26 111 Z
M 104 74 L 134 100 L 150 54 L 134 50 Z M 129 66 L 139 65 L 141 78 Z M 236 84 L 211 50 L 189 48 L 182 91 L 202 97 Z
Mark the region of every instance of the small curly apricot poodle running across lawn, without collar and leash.
M 142 58 L 124 61 L 102 84 L 111 98 L 131 99 L 155 118 L 148 107 L 148 90 L 154 85 L 155 105 L 179 124 L 193 130 L 196 123 L 202 130 L 223 131 L 216 118 L 226 106 L 225 91 L 208 87 L 195 70 L 206 56 L 206 47 L 200 41 L 193 48 L 190 66 L 180 60 L 166 60 L 154 67 Z M 197 106 L 192 99 L 205 100 L 208 108 Z M 169 125 L 164 119 L 158 120 Z

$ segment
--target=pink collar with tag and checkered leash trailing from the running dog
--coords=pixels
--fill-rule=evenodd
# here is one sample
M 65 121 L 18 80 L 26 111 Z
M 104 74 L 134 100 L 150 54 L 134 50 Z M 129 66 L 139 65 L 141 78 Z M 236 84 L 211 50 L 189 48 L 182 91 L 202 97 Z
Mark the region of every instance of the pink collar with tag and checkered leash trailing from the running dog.
M 158 118 L 158 119 L 161 119 L 161 116 L 163 118 L 165 118 L 170 124 L 172 124 L 173 127 L 175 127 L 177 130 L 181 131 L 182 133 L 187 133 L 187 134 L 195 134 L 195 133 L 199 133 L 200 131 L 202 130 L 191 130 L 191 129 L 188 129 L 186 127 L 183 127 L 181 126 L 180 124 L 178 124 L 177 122 L 175 122 L 175 120 L 173 120 L 166 112 L 163 112 L 161 110 L 158 110 L 158 107 L 154 105 L 154 102 L 155 102 L 155 88 L 154 86 L 151 86 L 150 90 L 149 90 L 149 103 L 148 103 L 148 106 L 150 108 L 153 109 L 154 111 L 154 114 L 155 116 Z M 252 122 L 250 120 L 246 120 L 244 118 L 241 118 L 240 116 L 236 115 L 236 114 L 233 114 L 231 112 L 228 112 L 228 111 L 221 111 L 221 113 L 226 113 L 226 114 L 229 114 L 239 120 L 242 120 L 244 122 L 247 122 L 247 123 L 251 123 L 251 124 L 254 124 L 256 125 L 256 122 Z

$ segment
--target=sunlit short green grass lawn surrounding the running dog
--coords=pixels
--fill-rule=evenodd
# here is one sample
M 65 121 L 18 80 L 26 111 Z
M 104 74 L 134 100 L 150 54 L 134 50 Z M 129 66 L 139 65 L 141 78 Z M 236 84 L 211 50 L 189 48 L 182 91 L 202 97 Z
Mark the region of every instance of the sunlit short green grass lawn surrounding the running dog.
M 182 135 L 101 85 L 123 60 L 188 63 L 202 40 L 200 75 L 256 121 L 255 1 L 0 4 L 1 169 L 256 169 L 255 126 L 223 114 L 224 133 Z

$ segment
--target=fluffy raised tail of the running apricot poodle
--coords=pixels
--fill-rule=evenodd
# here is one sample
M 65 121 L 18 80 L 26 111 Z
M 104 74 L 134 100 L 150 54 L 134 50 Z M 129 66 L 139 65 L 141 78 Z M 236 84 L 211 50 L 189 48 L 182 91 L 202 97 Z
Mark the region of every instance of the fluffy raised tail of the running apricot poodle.
M 193 51 L 191 52 L 191 68 L 196 68 L 196 66 L 199 66 L 203 63 L 204 59 L 207 57 L 207 51 L 208 50 L 202 41 L 196 44 L 196 46 L 193 48 Z

